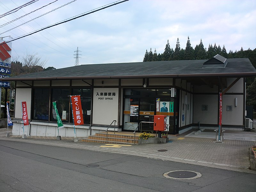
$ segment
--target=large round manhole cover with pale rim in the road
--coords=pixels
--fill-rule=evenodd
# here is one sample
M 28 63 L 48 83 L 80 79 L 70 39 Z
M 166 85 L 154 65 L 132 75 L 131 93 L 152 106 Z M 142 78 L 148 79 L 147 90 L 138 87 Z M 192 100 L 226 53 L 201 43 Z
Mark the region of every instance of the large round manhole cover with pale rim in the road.
M 170 179 L 196 179 L 201 176 L 202 174 L 199 172 L 185 171 L 185 170 L 169 171 L 164 173 L 164 177 L 170 178 Z

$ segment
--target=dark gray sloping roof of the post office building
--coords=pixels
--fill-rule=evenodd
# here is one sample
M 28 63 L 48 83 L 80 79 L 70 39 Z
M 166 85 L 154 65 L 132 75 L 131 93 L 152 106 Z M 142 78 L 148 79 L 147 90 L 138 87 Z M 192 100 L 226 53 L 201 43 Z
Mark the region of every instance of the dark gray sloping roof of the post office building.
M 248 58 L 227 59 L 225 68 L 203 68 L 207 60 L 88 64 L 13 76 L 7 81 L 44 79 L 99 79 L 138 77 L 256 76 Z

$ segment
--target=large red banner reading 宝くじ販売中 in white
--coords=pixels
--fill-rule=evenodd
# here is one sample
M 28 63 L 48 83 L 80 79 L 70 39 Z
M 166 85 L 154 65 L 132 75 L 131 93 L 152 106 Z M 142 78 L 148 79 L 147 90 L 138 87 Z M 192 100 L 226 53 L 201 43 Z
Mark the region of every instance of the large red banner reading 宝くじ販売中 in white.
M 81 105 L 80 95 L 71 95 L 72 113 L 74 118 L 74 125 L 83 125 L 83 110 Z

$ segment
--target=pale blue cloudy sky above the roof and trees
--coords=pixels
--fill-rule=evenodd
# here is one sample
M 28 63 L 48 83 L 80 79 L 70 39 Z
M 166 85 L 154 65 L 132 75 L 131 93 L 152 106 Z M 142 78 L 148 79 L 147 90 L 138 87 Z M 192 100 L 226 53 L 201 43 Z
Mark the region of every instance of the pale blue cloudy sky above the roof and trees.
M 31 0 L 1 0 L 0 15 Z M 0 19 L 0 37 L 16 38 L 37 29 L 111 4 L 112 0 L 76 0 L 56 11 L 12 29 L 73 0 L 39 0 Z M 29 12 L 52 3 L 19 20 Z M 193 48 L 202 39 L 209 44 L 239 51 L 256 48 L 255 0 L 129 0 L 98 12 L 12 41 L 12 60 L 37 54 L 44 68 L 95 63 L 141 62 L 146 49 L 163 53 L 167 39 L 175 49 L 177 38 L 185 49 L 188 36 Z M 4 25 L 12 21 L 10 24 Z M 4 25 L 4 26 L 2 26 Z M 9 40 L 5 37 L 4 40 Z

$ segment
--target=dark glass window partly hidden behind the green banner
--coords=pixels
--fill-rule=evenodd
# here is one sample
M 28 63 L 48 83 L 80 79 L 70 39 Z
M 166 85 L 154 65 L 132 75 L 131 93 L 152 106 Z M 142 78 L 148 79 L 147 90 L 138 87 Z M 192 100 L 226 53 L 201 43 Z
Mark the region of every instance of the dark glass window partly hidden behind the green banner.
M 68 122 L 68 115 L 69 115 L 69 103 L 70 103 L 70 94 L 69 89 L 52 89 L 52 102 L 56 101 L 58 113 L 62 122 Z M 54 108 L 52 106 L 52 110 Z M 54 116 L 53 116 L 54 115 Z M 55 111 L 52 112 L 51 116 L 52 121 L 57 121 L 55 116 Z

